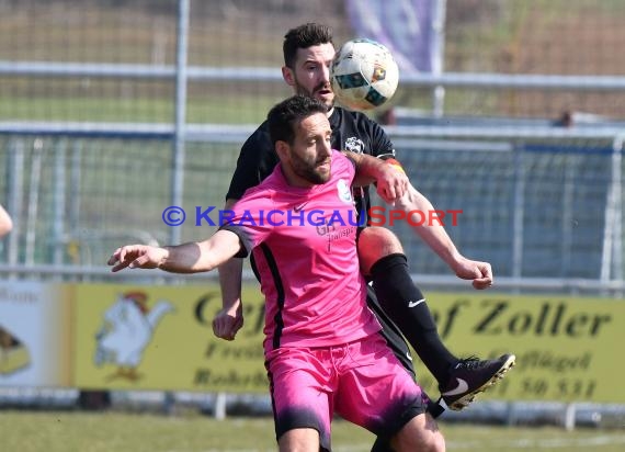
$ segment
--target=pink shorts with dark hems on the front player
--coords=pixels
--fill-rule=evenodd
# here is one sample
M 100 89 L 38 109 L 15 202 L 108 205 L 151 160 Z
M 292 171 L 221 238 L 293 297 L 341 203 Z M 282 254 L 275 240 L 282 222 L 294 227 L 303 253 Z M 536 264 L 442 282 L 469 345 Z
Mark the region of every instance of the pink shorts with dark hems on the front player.
M 276 438 L 314 428 L 326 450 L 334 413 L 390 438 L 429 402 L 380 335 L 336 347 L 275 349 L 265 365 Z

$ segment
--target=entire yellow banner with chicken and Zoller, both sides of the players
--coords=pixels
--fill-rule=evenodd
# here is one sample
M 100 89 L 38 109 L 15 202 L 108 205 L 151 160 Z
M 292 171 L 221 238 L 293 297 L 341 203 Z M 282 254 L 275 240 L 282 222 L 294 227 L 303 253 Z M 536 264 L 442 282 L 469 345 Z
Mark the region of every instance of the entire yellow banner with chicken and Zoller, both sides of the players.
M 262 295 L 250 285 L 243 300 L 246 325 L 228 342 L 211 327 L 220 306 L 215 284 L 77 286 L 76 385 L 266 391 Z M 516 354 L 516 366 L 485 398 L 625 402 L 615 372 L 625 343 L 623 301 L 476 292 L 433 293 L 429 305 L 455 354 Z M 417 358 L 416 366 L 419 382 L 436 396 Z

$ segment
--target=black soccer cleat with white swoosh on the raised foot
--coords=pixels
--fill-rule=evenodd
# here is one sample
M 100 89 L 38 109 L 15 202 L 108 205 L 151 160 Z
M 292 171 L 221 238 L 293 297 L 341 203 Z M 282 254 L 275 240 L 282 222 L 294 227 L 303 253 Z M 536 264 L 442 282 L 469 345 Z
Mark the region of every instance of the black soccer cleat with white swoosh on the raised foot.
M 447 408 L 459 411 L 466 408 L 477 394 L 488 389 L 503 378 L 516 360 L 514 354 L 503 354 L 495 360 L 467 358 L 461 360 L 450 371 L 450 381 L 439 386 L 441 398 Z

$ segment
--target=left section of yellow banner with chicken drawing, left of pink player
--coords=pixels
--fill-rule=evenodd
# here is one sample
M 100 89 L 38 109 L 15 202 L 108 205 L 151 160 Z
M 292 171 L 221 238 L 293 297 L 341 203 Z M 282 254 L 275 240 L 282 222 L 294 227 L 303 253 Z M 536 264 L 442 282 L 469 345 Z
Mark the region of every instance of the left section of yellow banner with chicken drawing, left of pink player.
M 76 385 L 82 388 L 266 392 L 263 302 L 246 290 L 246 326 L 217 339 L 215 283 L 76 287 Z

